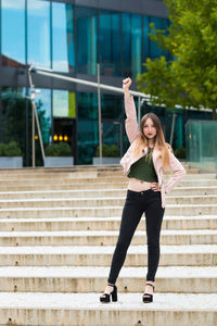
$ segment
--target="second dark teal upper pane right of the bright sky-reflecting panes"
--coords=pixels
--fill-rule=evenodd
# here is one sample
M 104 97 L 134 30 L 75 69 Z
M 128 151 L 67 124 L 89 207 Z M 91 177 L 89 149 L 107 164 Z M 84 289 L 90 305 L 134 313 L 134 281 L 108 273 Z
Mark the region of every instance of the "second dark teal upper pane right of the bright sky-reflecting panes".
M 100 63 L 102 75 L 120 76 L 119 13 L 100 13 Z

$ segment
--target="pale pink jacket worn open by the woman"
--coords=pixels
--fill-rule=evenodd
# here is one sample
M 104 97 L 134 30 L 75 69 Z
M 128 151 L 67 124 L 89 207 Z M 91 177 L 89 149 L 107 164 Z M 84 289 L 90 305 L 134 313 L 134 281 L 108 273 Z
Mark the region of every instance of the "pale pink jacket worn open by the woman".
M 125 111 L 127 118 L 125 121 L 126 133 L 130 141 L 130 147 L 120 160 L 120 164 L 124 167 L 124 174 L 128 174 L 130 166 L 138 161 L 142 155 L 145 155 L 148 148 L 143 148 L 142 152 L 138 156 L 132 156 L 135 140 L 139 136 L 140 131 L 137 124 L 137 111 L 135 106 L 135 101 L 132 96 L 125 95 Z M 184 167 L 181 165 L 179 160 L 169 150 L 169 167 L 174 171 L 167 183 L 164 181 L 164 172 L 162 168 L 162 158 L 159 158 L 159 151 L 153 150 L 153 164 L 158 179 L 158 186 L 161 187 L 162 196 L 162 208 L 165 208 L 165 193 L 171 191 L 171 189 L 177 186 L 183 175 L 187 173 Z

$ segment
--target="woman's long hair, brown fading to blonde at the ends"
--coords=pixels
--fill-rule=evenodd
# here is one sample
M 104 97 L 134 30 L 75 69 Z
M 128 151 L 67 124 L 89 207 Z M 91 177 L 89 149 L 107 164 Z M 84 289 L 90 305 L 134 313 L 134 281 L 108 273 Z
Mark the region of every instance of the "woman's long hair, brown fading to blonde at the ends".
M 163 131 L 162 124 L 161 124 L 158 116 L 152 112 L 146 113 L 141 118 L 140 135 L 136 139 L 133 155 L 137 156 L 144 147 L 148 147 L 148 138 L 144 136 L 143 127 L 149 117 L 152 120 L 153 125 L 156 128 L 154 149 L 157 149 L 161 152 L 159 156 L 162 158 L 163 170 L 166 170 L 166 167 L 169 165 L 168 149 L 170 149 L 171 152 L 173 152 L 173 149 L 171 149 L 170 145 L 165 141 L 164 131 Z

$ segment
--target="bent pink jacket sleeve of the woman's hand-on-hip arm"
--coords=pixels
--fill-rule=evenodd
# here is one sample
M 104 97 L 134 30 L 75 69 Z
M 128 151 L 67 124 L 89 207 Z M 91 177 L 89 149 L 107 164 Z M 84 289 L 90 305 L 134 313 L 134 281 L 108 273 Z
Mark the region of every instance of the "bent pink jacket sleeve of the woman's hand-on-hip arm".
M 165 192 L 168 193 L 180 183 L 180 179 L 187 174 L 186 168 L 179 162 L 179 160 L 174 155 L 169 149 L 169 167 L 173 170 L 174 174 L 170 176 L 168 181 L 164 185 Z

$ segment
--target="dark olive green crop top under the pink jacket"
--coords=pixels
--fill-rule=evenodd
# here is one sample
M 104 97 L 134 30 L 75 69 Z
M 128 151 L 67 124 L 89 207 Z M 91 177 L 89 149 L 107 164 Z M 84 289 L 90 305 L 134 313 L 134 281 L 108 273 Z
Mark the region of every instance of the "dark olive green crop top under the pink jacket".
M 148 148 L 149 156 L 152 155 L 152 148 Z M 148 155 L 142 156 L 130 166 L 130 172 L 127 175 L 129 178 L 132 177 L 148 183 L 157 183 L 153 160 L 152 158 L 149 160 Z

